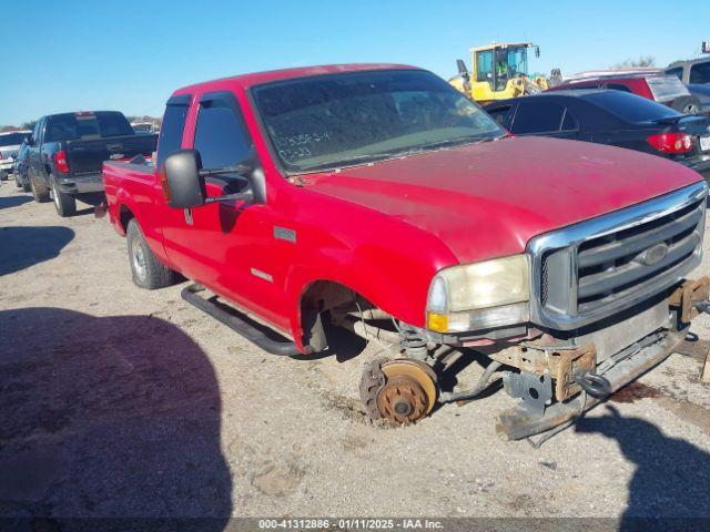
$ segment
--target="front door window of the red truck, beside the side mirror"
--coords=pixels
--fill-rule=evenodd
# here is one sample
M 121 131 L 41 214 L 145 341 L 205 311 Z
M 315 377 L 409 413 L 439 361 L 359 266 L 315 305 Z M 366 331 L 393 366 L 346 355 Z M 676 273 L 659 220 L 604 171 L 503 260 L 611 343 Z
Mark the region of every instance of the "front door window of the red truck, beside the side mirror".
M 252 141 L 241 113 L 222 100 L 201 103 L 194 149 L 200 152 L 204 168 L 231 166 L 250 158 Z

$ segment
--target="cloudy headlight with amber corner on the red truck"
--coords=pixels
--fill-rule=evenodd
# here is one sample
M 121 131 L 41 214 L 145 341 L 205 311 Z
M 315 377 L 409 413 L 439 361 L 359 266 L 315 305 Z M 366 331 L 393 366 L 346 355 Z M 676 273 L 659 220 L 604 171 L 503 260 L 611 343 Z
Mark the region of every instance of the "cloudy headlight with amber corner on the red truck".
M 453 266 L 432 280 L 427 328 L 460 332 L 524 323 L 529 299 L 526 255 Z

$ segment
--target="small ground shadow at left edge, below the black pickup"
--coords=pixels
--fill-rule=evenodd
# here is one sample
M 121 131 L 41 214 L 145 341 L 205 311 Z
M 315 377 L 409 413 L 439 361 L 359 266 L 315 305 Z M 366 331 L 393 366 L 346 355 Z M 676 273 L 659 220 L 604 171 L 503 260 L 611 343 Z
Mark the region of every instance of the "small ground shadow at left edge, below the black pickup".
M 69 227 L 0 227 L 0 275 L 54 258 L 73 238 Z

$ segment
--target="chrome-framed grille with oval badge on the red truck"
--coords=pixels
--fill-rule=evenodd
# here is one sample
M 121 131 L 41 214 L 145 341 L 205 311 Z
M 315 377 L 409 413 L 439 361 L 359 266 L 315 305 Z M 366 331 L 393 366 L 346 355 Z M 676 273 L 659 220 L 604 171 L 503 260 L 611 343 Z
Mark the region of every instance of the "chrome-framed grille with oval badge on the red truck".
M 530 315 L 569 330 L 650 298 L 698 266 L 707 186 L 534 238 Z

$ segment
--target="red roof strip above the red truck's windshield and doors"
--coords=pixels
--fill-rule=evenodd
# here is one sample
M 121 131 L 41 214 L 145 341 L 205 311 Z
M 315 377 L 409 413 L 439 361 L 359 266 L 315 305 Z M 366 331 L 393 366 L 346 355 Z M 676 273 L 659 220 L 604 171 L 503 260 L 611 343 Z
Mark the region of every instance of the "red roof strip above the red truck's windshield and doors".
M 250 86 L 268 83 L 272 81 L 292 80 L 297 78 L 308 78 L 312 75 L 338 74 L 344 72 L 366 72 L 372 70 L 420 70 L 417 66 L 395 63 L 347 63 L 326 64 L 321 66 L 302 66 L 297 69 L 270 70 L 266 72 L 253 72 L 250 74 L 239 74 L 219 80 L 204 81 L 178 89 L 173 94 L 184 94 L 193 92 L 195 89 L 209 89 L 212 84 L 223 84 L 234 82 L 248 89 Z

